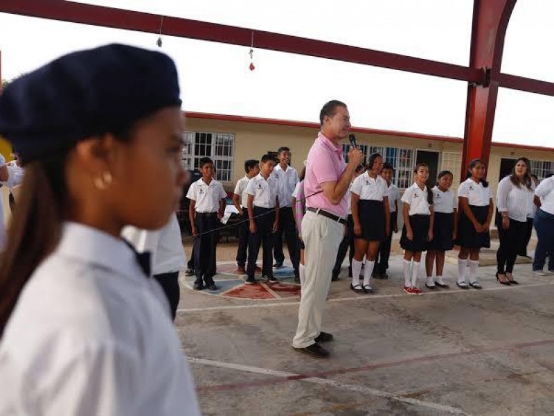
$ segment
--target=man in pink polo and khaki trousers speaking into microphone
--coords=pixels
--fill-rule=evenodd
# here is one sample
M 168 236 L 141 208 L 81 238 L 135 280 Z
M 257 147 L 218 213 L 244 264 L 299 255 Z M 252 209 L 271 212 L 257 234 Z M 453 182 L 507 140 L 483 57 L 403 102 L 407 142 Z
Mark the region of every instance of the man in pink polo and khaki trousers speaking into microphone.
M 346 139 L 350 128 L 350 114 L 345 103 L 333 100 L 323 105 L 319 121 L 321 131 L 306 162 L 307 200 L 302 220 L 306 271 L 292 347 L 298 352 L 323 358 L 329 356 L 329 352 L 319 343 L 328 342 L 333 336 L 321 331 L 321 319 L 348 216 L 346 192 L 364 155 L 350 148 L 348 165 L 344 163 L 339 141 Z

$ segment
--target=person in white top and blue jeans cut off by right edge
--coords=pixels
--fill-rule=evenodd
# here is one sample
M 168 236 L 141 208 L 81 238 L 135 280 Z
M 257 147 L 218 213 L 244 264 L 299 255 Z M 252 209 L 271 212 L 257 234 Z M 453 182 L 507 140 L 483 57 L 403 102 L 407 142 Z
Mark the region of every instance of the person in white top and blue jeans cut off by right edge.
M 544 276 L 542 271 L 546 256 L 554 254 L 554 176 L 547 177 L 535 189 L 535 195 L 540 198 L 541 205 L 535 215 L 535 230 L 537 231 L 537 247 L 533 260 L 533 272 Z M 554 270 L 550 270 L 554 272 Z

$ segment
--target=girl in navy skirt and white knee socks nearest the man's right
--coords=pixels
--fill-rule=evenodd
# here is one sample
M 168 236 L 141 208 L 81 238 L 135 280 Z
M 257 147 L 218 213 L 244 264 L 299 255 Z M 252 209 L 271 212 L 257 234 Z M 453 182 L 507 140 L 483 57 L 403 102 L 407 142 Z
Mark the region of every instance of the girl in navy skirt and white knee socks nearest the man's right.
M 373 153 L 368 160 L 366 173 L 352 183 L 352 220 L 354 222 L 354 259 L 352 259 L 352 284 L 357 293 L 373 293 L 369 281 L 379 244 L 391 232 L 391 214 L 388 208 L 388 187 L 380 175 L 383 157 Z M 366 256 L 364 284 L 359 284 L 361 264 Z

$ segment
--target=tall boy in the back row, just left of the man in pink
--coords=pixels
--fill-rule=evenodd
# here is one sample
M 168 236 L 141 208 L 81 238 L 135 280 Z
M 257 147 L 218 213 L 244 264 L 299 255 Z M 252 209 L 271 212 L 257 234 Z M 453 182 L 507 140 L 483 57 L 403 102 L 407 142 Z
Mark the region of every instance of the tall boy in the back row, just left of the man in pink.
M 275 166 L 271 176 L 278 182 L 279 196 L 279 228 L 274 234 L 273 252 L 275 257 L 275 268 L 283 266 L 285 254 L 283 254 L 283 234 L 287 240 L 287 249 L 289 250 L 290 261 L 294 269 L 294 276 L 298 279 L 298 262 L 300 261 L 300 251 L 298 248 L 298 236 L 296 235 L 296 223 L 292 214 L 291 196 L 296 184 L 300 182 L 296 169 L 289 166 L 290 149 L 282 146 L 277 150 L 279 163 Z

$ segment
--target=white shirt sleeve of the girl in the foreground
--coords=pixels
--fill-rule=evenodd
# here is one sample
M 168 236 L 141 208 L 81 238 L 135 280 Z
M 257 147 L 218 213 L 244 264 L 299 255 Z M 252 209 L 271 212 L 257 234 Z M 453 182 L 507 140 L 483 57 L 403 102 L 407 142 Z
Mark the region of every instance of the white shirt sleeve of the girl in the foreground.
M 62 358 L 48 371 L 36 408 L 40 415 L 136 415 L 143 363 L 110 345 Z M 60 358 L 60 357 L 57 357 Z M 45 377 L 46 379 L 46 377 Z M 40 382 L 33 379 L 33 383 Z M 26 394 L 28 392 L 22 392 Z

